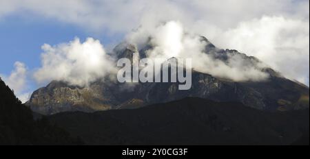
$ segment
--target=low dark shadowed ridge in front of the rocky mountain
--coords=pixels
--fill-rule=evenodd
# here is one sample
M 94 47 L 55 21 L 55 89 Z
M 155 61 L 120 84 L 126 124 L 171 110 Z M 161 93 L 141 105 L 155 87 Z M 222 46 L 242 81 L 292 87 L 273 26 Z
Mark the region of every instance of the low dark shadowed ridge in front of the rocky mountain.
M 194 97 L 48 118 L 87 145 L 309 145 L 309 110 L 267 112 Z

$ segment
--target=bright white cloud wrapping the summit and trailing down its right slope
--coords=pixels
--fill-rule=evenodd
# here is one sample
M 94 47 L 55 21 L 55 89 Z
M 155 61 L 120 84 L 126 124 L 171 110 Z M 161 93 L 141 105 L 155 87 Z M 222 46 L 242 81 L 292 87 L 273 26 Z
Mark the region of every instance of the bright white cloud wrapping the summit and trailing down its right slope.
M 145 41 L 141 42 L 141 39 Z M 127 40 L 135 42 L 135 45 L 137 43 L 152 45 L 152 49 L 146 51 L 148 58 L 192 58 L 196 71 L 209 73 L 215 77 L 231 79 L 235 82 L 262 81 L 269 77 L 262 71 L 264 64 L 256 60 L 231 54 L 224 61 L 205 53 L 205 46 L 208 43 L 196 34 L 188 34 L 178 21 L 169 21 L 154 28 L 141 27 L 130 34 Z

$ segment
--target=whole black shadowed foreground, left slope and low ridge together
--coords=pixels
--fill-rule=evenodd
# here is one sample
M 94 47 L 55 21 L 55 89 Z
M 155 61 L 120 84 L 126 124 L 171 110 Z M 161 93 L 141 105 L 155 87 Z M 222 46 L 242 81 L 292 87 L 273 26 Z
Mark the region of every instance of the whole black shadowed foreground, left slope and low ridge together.
M 81 140 L 89 145 L 309 145 L 309 110 L 266 112 L 239 102 L 185 98 L 134 110 L 34 116 L 0 80 L 0 145 Z

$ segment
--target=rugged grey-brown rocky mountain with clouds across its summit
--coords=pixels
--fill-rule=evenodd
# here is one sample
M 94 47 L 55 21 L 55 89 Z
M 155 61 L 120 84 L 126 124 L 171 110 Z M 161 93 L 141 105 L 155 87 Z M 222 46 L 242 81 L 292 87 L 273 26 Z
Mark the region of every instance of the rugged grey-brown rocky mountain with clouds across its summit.
M 216 60 L 227 62 L 230 56 L 238 56 L 247 65 L 256 66 L 257 58 L 236 50 L 218 49 L 207 38 L 204 53 Z M 134 45 L 122 42 L 113 51 L 115 58 L 130 58 L 139 53 L 145 58 L 147 45 L 138 51 Z M 267 111 L 290 111 L 309 108 L 309 88 L 282 77 L 269 67 L 262 69 L 269 75 L 262 82 L 234 82 L 193 70 L 192 88 L 178 90 L 178 83 L 119 84 L 111 79 L 98 80 L 85 88 L 53 81 L 34 91 L 26 103 L 34 112 L 56 114 L 59 112 L 139 108 L 153 103 L 175 101 L 185 97 L 200 97 L 213 101 L 239 101 L 245 106 Z M 133 103 L 133 104 L 130 104 Z

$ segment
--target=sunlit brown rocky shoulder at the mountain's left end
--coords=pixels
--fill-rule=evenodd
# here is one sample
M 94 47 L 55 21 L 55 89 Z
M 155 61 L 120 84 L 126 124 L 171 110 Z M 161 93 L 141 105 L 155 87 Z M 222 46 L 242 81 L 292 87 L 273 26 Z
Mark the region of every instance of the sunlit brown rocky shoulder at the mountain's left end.
M 80 88 L 53 81 L 45 88 L 36 90 L 25 104 L 30 106 L 34 112 L 55 114 L 67 111 L 110 110 L 114 101 L 116 101 L 114 96 L 103 82 Z

